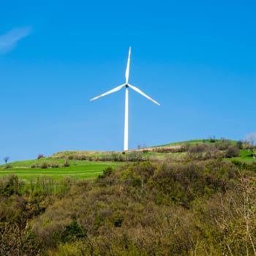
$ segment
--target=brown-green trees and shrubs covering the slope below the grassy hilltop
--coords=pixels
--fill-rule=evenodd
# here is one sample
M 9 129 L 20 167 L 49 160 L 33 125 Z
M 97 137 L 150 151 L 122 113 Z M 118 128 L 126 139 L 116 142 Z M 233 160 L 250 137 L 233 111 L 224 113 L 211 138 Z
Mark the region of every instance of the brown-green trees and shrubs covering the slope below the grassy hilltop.
M 215 146 L 195 143 L 93 180 L 2 178 L 0 254 L 255 255 L 256 164 L 220 157 L 232 144 L 213 158 Z

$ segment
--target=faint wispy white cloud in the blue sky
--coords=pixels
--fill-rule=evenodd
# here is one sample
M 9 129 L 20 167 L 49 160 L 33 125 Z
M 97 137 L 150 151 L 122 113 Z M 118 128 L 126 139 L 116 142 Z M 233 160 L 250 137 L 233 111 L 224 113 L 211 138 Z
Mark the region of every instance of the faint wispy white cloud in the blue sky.
M 0 54 L 13 50 L 18 41 L 27 37 L 30 33 L 30 27 L 23 27 L 12 29 L 8 31 L 7 34 L 0 35 Z

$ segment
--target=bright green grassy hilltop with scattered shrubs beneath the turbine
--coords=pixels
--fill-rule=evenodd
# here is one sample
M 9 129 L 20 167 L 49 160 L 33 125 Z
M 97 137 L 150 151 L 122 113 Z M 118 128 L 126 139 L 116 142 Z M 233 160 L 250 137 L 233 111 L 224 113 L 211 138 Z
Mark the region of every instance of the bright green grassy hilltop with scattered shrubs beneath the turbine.
M 54 180 L 63 178 L 97 178 L 106 167 L 122 162 L 188 162 L 206 159 L 227 159 L 253 162 L 253 147 L 235 140 L 189 140 L 151 148 L 138 148 L 127 152 L 113 151 L 62 151 L 50 157 L 12 162 L 0 166 L 0 176 L 13 173 L 21 180 L 38 177 Z

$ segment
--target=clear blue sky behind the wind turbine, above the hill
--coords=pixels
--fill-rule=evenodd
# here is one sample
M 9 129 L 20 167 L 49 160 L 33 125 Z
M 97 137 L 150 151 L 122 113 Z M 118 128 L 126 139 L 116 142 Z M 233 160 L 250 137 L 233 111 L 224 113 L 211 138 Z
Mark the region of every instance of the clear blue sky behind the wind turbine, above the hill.
M 255 1 L 4 1 L 0 159 L 256 131 Z

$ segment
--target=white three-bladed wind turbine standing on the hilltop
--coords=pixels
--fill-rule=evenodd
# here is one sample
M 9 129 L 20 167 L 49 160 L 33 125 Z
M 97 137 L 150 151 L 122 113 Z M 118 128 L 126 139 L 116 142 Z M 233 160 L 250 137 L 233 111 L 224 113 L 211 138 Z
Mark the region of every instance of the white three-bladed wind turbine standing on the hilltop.
M 93 99 L 90 99 L 91 101 L 94 99 L 99 99 L 105 95 L 108 94 L 112 94 L 113 92 L 119 91 L 121 90 L 123 87 L 125 87 L 125 108 L 124 108 L 124 151 L 128 150 L 128 92 L 129 92 L 129 88 L 131 88 L 134 91 L 137 91 L 139 94 L 143 95 L 144 97 L 146 97 L 147 99 L 151 100 L 151 102 L 154 102 L 157 105 L 160 105 L 158 102 L 156 102 L 154 99 L 152 99 L 151 97 L 149 97 L 147 94 L 143 93 L 143 91 L 140 91 L 140 89 L 138 89 L 135 86 L 132 86 L 131 84 L 128 83 L 129 81 L 129 61 L 131 59 L 131 48 L 129 47 L 129 54 L 128 54 L 128 60 L 127 60 L 127 69 L 125 72 L 125 83 L 121 84 L 120 86 L 116 86 L 114 89 L 111 89 L 110 91 L 105 92 L 104 94 L 100 94 L 97 97 L 94 97 Z

